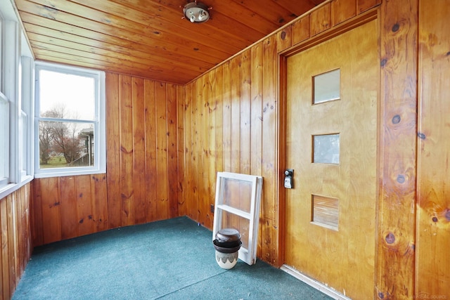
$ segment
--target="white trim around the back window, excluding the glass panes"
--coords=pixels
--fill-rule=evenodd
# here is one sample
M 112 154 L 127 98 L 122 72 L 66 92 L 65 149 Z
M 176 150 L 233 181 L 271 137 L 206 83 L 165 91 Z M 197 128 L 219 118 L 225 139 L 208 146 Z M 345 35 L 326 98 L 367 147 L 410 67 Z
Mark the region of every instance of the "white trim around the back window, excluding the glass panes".
M 39 116 L 39 70 L 49 70 L 53 72 L 67 72 L 68 74 L 77 74 L 81 76 L 94 77 L 97 82 L 96 94 L 96 118 L 94 125 L 94 166 L 93 167 L 70 167 L 70 168 L 39 168 L 39 120 L 45 119 Z M 81 67 L 71 67 L 67 65 L 58 65 L 53 63 L 36 62 L 36 86 L 34 107 L 34 177 L 56 177 L 73 176 L 83 174 L 101 174 L 106 171 L 106 122 L 105 122 L 105 72 L 90 70 Z M 78 122 L 78 120 L 61 119 L 62 121 Z

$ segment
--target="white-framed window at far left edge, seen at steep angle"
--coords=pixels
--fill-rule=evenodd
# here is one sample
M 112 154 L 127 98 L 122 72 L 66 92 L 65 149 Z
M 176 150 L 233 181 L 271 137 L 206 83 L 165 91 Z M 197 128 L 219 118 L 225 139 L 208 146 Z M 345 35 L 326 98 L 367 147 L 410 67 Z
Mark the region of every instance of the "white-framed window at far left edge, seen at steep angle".
M 33 178 L 33 66 L 11 1 L 0 1 L 0 199 Z

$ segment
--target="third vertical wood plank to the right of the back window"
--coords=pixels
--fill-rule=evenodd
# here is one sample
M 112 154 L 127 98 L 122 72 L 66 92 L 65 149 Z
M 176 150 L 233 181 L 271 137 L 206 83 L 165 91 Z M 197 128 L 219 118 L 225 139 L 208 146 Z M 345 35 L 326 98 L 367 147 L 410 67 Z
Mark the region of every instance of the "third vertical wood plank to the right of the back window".
M 147 219 L 148 202 L 146 201 L 146 133 L 145 133 L 145 102 L 144 84 L 142 78 L 131 79 L 133 101 L 133 192 L 134 192 L 134 223 L 145 223 Z

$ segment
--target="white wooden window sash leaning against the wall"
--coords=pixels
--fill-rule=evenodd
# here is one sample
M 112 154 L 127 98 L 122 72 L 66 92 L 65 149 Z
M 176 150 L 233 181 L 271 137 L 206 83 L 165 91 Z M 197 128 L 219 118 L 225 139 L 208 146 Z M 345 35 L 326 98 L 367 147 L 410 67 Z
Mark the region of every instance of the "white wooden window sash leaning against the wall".
M 224 181 L 226 180 L 236 180 L 242 181 L 243 183 L 251 183 L 251 197 L 248 199 L 249 211 L 244 211 L 238 209 L 237 207 L 232 207 L 227 205 L 226 199 L 224 199 Z M 212 240 L 215 239 L 216 233 L 222 229 L 222 217 L 224 212 L 227 214 L 234 214 L 240 218 L 247 219 L 250 222 L 247 233 L 248 236 L 248 248 L 243 246 L 239 249 L 239 259 L 252 265 L 256 263 L 256 253 L 257 253 L 257 237 L 258 237 L 258 224 L 259 224 L 259 207 L 261 204 L 262 196 L 262 176 L 237 174 L 230 172 L 217 172 L 217 183 L 216 183 L 216 199 L 214 205 L 214 224 L 212 229 Z M 240 199 L 243 200 L 242 198 Z M 242 204 L 242 203 L 241 203 Z M 238 229 L 238 226 L 233 226 Z M 230 226 L 227 226 L 230 228 Z

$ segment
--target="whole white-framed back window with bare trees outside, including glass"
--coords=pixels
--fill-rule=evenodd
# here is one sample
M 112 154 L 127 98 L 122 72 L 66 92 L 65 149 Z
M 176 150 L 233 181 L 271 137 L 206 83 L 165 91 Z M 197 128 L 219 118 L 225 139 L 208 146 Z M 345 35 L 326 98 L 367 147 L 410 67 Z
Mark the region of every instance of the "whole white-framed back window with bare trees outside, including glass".
M 104 173 L 105 73 L 36 63 L 34 176 Z

